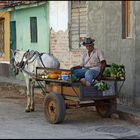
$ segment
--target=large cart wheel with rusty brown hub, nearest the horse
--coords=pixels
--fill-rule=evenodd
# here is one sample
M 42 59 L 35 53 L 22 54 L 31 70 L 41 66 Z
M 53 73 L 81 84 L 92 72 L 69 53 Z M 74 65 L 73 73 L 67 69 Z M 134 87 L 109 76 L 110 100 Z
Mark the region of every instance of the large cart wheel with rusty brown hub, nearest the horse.
M 57 124 L 65 118 L 65 102 L 61 94 L 50 93 L 44 101 L 44 114 L 48 122 Z

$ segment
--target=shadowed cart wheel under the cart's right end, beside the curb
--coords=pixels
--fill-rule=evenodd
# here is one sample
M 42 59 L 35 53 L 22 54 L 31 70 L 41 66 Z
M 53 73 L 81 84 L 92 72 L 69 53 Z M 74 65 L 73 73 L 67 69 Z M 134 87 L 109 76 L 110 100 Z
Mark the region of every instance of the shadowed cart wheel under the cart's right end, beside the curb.
M 97 100 L 95 101 L 95 106 L 98 114 L 104 118 L 110 117 L 117 110 L 116 99 Z

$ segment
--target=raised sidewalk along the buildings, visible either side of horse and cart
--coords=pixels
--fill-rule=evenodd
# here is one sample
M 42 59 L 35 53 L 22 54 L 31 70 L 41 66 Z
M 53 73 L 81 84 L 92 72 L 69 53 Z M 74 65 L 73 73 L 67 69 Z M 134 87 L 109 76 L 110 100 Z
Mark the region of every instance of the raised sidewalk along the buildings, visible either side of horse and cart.
M 2 76 L 0 76 L 0 84 L 14 84 L 18 87 L 26 88 L 25 81 L 16 80 L 13 78 L 10 79 Z M 117 112 L 120 119 L 127 120 L 136 125 L 140 125 L 140 109 L 118 104 Z

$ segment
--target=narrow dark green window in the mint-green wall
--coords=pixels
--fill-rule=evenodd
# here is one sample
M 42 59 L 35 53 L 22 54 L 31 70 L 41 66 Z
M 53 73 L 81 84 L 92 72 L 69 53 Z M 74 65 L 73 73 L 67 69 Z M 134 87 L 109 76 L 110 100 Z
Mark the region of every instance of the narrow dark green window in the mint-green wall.
M 37 18 L 30 17 L 30 34 L 31 34 L 31 42 L 37 42 Z

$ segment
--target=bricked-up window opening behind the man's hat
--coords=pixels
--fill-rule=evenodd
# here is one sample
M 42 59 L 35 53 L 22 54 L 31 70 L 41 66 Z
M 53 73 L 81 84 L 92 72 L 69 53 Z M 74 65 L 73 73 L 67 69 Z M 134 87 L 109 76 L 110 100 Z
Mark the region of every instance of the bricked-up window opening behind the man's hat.
M 87 29 L 86 1 L 71 1 L 70 47 L 78 49 Z

